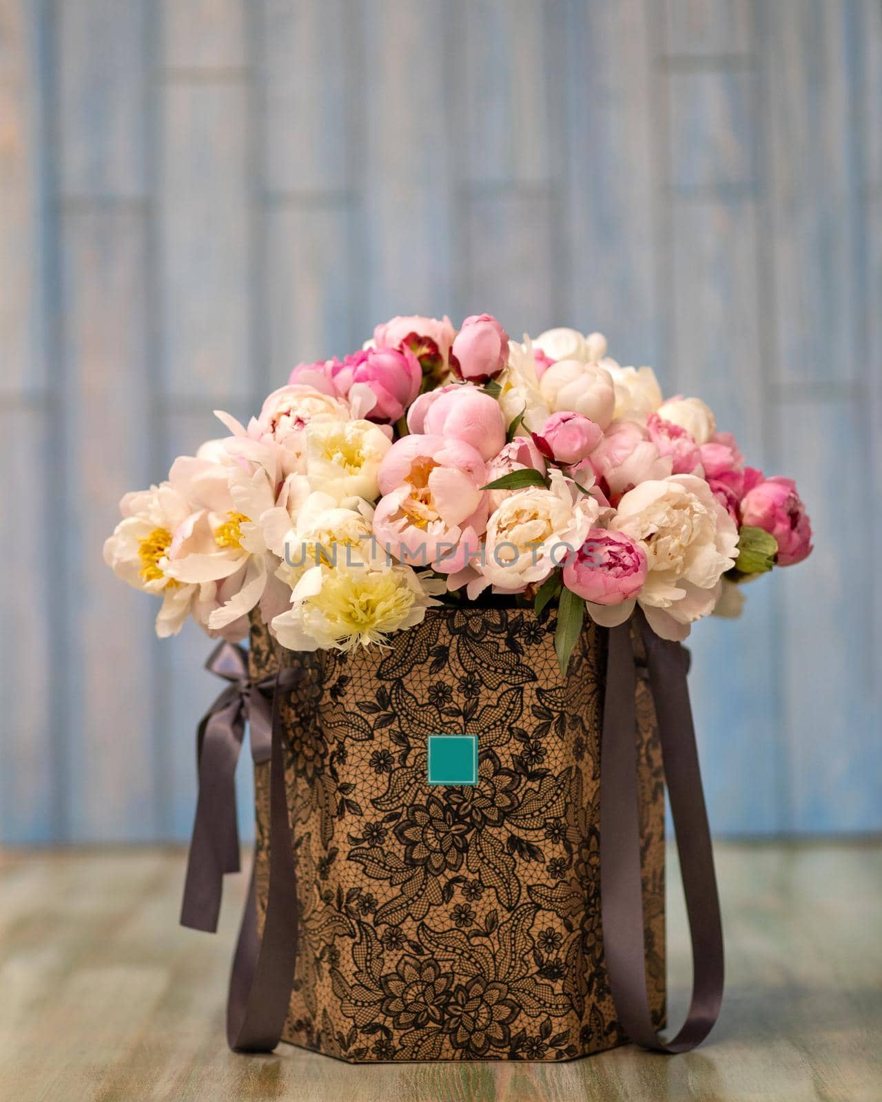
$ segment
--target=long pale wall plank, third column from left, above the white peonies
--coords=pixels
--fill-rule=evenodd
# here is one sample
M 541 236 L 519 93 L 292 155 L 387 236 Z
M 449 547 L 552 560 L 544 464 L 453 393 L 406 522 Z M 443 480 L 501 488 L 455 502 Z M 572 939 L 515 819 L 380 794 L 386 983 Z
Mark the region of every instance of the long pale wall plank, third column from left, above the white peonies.
M 248 91 L 175 82 L 161 96 L 162 389 L 243 398 L 252 386 Z

